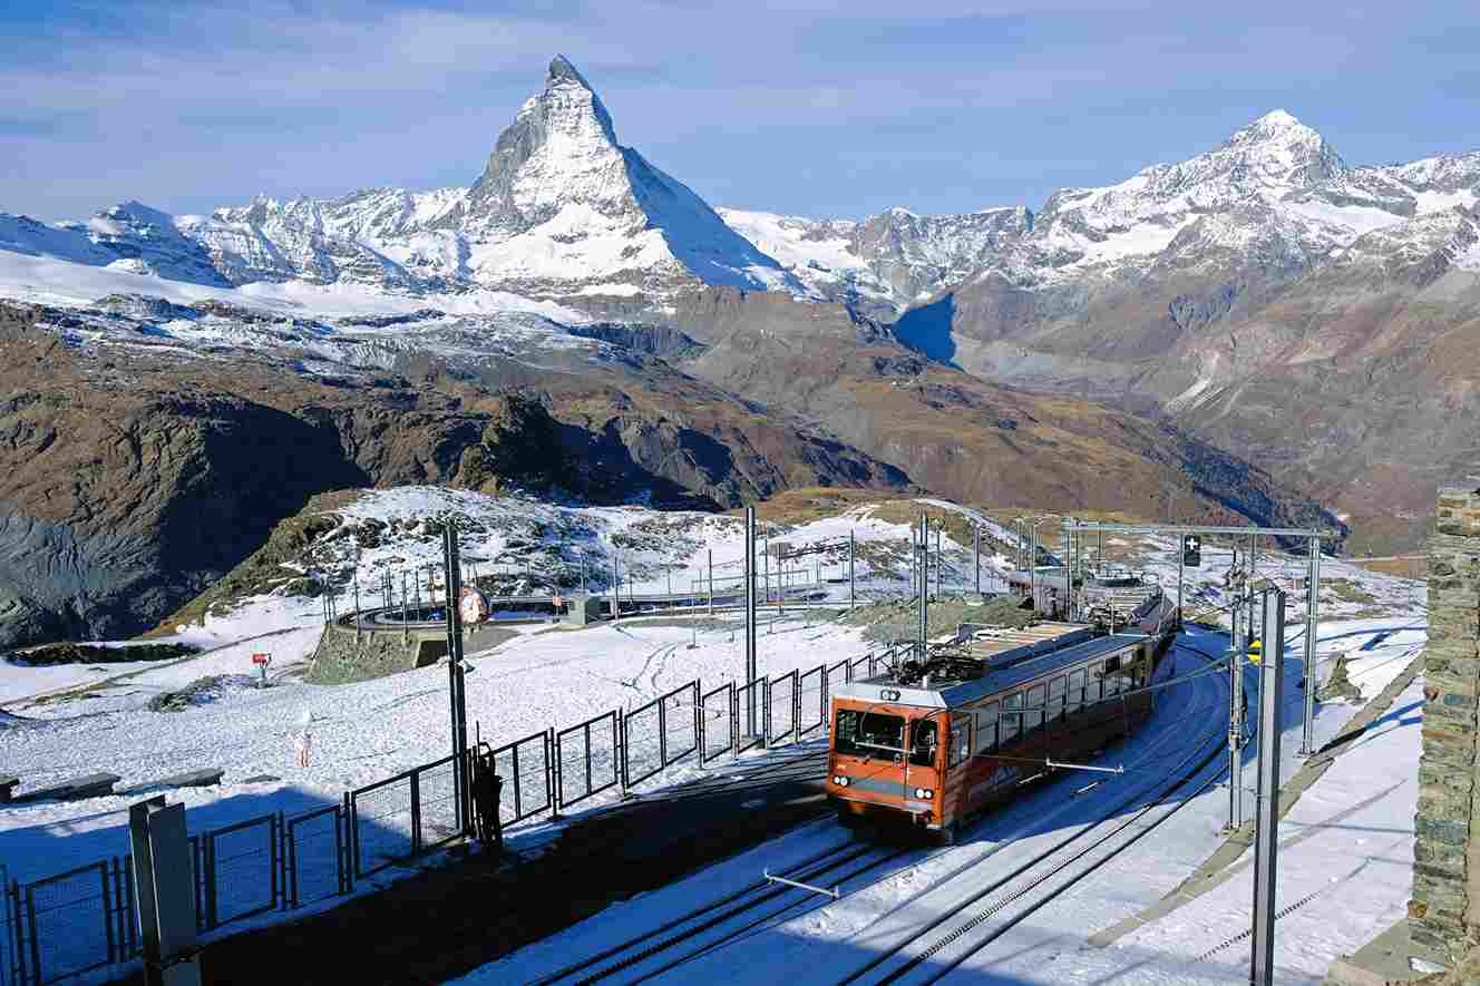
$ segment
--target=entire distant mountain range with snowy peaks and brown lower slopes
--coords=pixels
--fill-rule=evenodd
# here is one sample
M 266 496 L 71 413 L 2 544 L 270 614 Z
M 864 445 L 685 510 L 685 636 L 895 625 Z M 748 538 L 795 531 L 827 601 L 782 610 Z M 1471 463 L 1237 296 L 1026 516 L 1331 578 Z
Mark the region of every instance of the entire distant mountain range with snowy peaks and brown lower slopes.
M 861 484 L 1259 520 L 1320 520 L 1319 502 L 1412 543 L 1436 483 L 1480 459 L 1477 197 L 1480 154 L 1353 167 L 1276 111 L 1036 212 L 715 210 L 622 147 L 555 58 L 465 188 L 0 213 L 6 345 L 50 354 L 0 367 L 0 626 L 164 611 L 345 484 L 709 505 Z M 136 407 L 130 379 L 152 394 Z M 133 407 L 133 452 L 62 456 L 68 416 L 110 401 Z M 123 551 L 98 526 L 111 471 L 148 475 L 179 428 L 194 444 L 157 514 L 117 514 L 138 529 Z M 232 455 L 271 480 L 287 434 L 315 465 L 244 502 L 228 546 L 149 554 Z M 58 499 L 67 469 L 92 478 Z M 145 582 L 99 574 L 120 564 Z M 73 574 L 43 600 L 46 566 Z

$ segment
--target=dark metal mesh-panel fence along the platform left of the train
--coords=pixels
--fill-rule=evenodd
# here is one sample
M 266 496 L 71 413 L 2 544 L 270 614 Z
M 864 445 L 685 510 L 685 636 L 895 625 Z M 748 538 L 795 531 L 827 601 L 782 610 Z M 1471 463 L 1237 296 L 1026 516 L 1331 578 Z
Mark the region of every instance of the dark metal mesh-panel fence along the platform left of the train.
M 635 709 L 505 743 L 493 751 L 503 777 L 499 817 L 512 825 L 554 816 L 684 761 L 706 765 L 826 731 L 838 684 L 895 659 L 867 654 L 709 691 L 691 681 Z M 460 817 L 456 767 L 454 757 L 443 757 L 345 792 L 342 802 L 191 835 L 200 930 L 348 894 L 357 881 L 459 838 L 469 820 Z M 0 986 L 43 986 L 141 953 L 127 856 L 25 882 L 0 879 Z

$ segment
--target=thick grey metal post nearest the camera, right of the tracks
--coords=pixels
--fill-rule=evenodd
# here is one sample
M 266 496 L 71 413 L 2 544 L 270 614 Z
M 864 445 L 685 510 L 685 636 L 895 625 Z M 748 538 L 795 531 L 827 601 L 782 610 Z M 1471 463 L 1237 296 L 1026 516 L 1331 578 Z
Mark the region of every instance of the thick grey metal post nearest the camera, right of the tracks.
M 1274 879 L 1280 823 L 1280 697 L 1285 684 L 1285 592 L 1262 594 L 1259 656 L 1259 807 L 1254 831 L 1254 955 L 1249 982 L 1274 983 Z

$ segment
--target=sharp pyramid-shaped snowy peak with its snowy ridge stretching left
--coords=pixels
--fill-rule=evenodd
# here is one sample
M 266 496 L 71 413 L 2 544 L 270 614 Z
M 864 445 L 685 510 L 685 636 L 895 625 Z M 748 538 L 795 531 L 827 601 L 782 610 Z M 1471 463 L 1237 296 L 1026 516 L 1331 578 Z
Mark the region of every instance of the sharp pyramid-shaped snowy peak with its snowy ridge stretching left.
M 485 289 L 588 306 L 636 298 L 657 309 L 706 284 L 805 290 L 687 185 L 622 147 L 562 56 L 468 188 L 258 197 L 210 216 L 130 201 L 61 227 L 0 213 L 0 249 L 210 286 Z

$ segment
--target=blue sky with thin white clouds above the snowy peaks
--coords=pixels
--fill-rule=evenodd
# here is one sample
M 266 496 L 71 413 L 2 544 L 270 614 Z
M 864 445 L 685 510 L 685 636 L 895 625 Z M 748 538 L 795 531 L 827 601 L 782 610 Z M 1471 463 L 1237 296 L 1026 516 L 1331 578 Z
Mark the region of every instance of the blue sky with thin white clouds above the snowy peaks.
M 44 219 L 463 185 L 556 52 L 710 203 L 799 215 L 1036 209 L 1274 108 L 1348 163 L 1480 148 L 1473 0 L 22 0 L 0 50 L 0 210 Z

